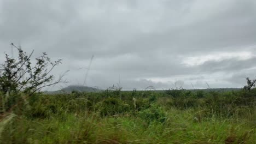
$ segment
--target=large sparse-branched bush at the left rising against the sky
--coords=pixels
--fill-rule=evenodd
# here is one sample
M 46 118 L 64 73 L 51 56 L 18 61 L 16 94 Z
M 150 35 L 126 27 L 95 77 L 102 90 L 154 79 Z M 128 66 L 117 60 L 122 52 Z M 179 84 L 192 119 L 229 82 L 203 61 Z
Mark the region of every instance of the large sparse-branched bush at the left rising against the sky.
M 11 46 L 18 50 L 18 57 L 12 58 L 5 53 L 5 61 L 0 64 L 0 92 L 3 93 L 2 101 L 7 102 L 7 96 L 5 95 L 9 95 L 12 92 L 24 92 L 27 95 L 31 95 L 43 87 L 66 82 L 62 81 L 64 74 L 55 82 L 52 82 L 54 76 L 50 74 L 57 65 L 61 64 L 61 59 L 52 62 L 44 52 L 32 64 L 31 56 L 33 51 L 30 55 L 27 55 L 21 47 L 15 46 L 13 43 L 11 43 Z

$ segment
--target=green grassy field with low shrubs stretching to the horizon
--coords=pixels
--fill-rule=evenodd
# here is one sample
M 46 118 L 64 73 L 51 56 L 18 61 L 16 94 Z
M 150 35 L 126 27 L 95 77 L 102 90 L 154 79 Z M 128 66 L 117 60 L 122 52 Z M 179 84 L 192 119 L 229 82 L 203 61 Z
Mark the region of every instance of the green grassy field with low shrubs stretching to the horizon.
M 0 143 L 256 143 L 255 88 L 17 95 Z

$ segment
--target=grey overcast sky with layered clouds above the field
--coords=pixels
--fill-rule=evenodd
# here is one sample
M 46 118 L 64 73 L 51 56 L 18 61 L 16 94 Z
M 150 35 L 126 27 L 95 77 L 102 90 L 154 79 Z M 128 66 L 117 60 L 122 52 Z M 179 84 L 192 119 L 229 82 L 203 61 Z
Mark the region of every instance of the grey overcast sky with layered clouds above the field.
M 240 88 L 256 75 L 256 1 L 0 0 L 1 62 L 10 43 L 63 59 L 53 74 L 72 85 L 94 55 L 88 86 Z

